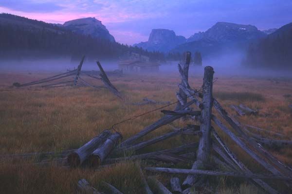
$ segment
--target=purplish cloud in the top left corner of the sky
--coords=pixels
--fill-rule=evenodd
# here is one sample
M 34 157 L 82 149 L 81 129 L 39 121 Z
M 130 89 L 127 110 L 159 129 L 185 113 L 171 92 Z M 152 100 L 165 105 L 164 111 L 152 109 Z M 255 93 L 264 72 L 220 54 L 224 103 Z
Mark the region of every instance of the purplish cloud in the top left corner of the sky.
M 40 0 L 0 0 L 0 6 L 21 12 L 49 13 L 62 10 L 63 7 L 54 2 Z

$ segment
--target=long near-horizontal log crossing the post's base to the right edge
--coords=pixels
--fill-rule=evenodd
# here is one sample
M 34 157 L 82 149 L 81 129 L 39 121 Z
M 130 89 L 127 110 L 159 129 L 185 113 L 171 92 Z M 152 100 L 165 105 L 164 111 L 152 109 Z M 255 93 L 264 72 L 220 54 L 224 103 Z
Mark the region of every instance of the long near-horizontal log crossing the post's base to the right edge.
M 242 178 L 259 178 L 259 179 L 278 179 L 278 180 L 292 180 L 291 177 L 282 175 L 271 175 L 271 174 L 248 174 L 239 172 L 220 172 L 220 171 L 209 171 L 209 170 L 195 170 L 195 169 L 178 169 L 178 168 L 155 168 L 146 167 L 146 171 L 151 172 L 162 172 L 171 174 L 185 174 L 185 175 L 207 175 L 207 176 L 234 176 Z

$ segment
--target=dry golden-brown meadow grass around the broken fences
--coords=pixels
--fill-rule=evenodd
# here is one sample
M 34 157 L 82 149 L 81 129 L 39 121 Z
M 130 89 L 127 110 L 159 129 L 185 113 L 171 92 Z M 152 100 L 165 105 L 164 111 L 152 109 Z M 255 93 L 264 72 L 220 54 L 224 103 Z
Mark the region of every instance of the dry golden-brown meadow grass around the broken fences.
M 110 128 L 113 123 L 159 107 L 159 105 L 131 105 L 133 102 L 141 101 L 143 97 L 158 101 L 176 101 L 175 92 L 178 89 L 177 84 L 180 82 L 178 74 L 110 77 L 113 85 L 125 96 L 125 102 L 118 100 L 107 89 L 10 87 L 16 81 L 24 83 L 45 76 L 48 74 L 0 75 L 0 154 L 78 148 L 103 129 Z M 200 88 L 202 75 L 191 75 L 189 80 L 193 88 Z M 101 85 L 101 83 L 97 83 L 97 85 Z M 264 78 L 219 77 L 214 84 L 214 96 L 231 115 L 235 115 L 235 112 L 229 108 L 231 104 L 242 103 L 259 109 L 258 116 L 239 117 L 240 122 L 282 133 L 287 139 L 292 139 L 292 112 L 288 108 L 288 105 L 292 104 L 292 97 L 285 94 L 292 94 L 292 80 L 288 79 L 275 84 Z M 171 106 L 169 109 L 173 107 Z M 116 128 L 122 132 L 125 140 L 162 116 L 160 111 L 156 111 L 120 124 Z M 176 121 L 174 124 L 183 126 L 185 123 Z M 142 140 L 168 131 L 171 131 L 169 126 L 161 127 L 146 135 Z M 238 158 L 249 168 L 255 172 L 262 171 L 260 165 L 234 145 L 232 140 L 221 131 L 218 130 L 218 132 Z M 260 132 L 260 134 L 273 137 L 265 132 Z M 139 153 L 179 146 L 197 140 L 197 138 L 186 136 L 175 137 L 146 147 Z M 291 149 L 282 148 L 270 151 L 278 159 L 292 165 Z M 97 172 L 93 172 L 91 169 L 68 170 L 57 167 L 37 167 L 23 163 L 23 161 L 0 163 L 1 194 L 69 194 L 74 192 L 77 180 L 80 178 L 88 179 L 97 189 L 101 187 L 100 182 L 105 180 L 125 194 L 144 192 L 137 169 L 138 164 L 130 161 L 105 167 Z M 172 166 L 161 162 L 143 163 L 143 165 L 154 164 Z M 183 168 L 190 168 L 190 166 L 191 164 L 175 165 L 175 167 Z M 180 177 L 182 180 L 184 176 Z M 169 187 L 169 176 L 159 176 L 159 179 Z M 259 192 L 251 185 L 246 185 L 243 179 L 210 177 L 209 181 L 214 182 L 213 188 L 221 193 Z M 276 184 L 276 182 L 271 184 Z

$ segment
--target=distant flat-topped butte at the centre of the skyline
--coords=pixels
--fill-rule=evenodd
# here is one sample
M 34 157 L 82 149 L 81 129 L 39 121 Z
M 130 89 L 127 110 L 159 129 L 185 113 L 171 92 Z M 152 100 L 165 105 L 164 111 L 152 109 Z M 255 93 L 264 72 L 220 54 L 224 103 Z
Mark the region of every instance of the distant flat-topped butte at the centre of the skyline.
M 185 37 L 176 35 L 172 30 L 153 29 L 147 42 L 141 42 L 133 46 L 141 47 L 147 51 L 168 52 L 185 41 Z

